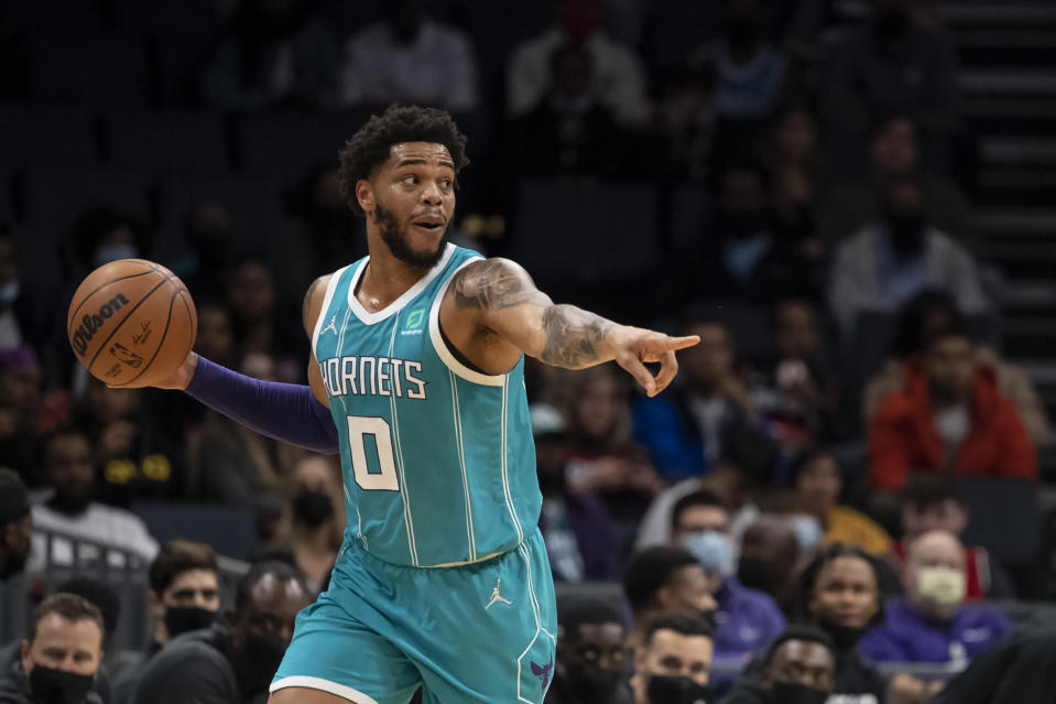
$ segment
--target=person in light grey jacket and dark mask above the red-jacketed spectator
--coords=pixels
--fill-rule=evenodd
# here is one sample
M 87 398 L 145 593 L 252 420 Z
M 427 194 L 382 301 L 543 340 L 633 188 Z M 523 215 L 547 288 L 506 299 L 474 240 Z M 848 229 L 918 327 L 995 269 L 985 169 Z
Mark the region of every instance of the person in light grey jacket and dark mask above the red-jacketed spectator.
M 941 289 L 966 313 L 988 311 L 971 254 L 927 218 L 915 177 L 892 181 L 881 195 L 881 219 L 836 250 L 829 310 L 845 336 L 859 313 L 892 311 L 926 289 Z

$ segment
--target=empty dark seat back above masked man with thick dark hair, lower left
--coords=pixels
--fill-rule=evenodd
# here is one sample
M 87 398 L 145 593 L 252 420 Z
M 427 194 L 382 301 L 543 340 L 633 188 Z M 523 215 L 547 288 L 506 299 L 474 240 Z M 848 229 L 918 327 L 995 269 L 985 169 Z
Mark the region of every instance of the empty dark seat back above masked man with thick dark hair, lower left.
M 137 501 L 132 511 L 143 519 L 157 542 L 193 540 L 236 559 L 246 557 L 253 549 L 255 531 L 249 507 Z

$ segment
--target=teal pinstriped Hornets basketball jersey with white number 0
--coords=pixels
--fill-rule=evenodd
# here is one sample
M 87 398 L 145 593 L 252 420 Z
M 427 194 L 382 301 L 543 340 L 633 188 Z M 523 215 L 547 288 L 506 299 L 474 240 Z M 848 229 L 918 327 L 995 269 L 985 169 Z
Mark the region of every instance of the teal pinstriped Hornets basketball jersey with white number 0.
M 516 548 L 538 521 L 523 357 L 509 373 L 480 373 L 439 328 L 451 277 L 476 259 L 447 245 L 425 277 L 370 313 L 355 296 L 363 258 L 330 278 L 315 326 L 348 531 L 384 562 L 479 562 Z

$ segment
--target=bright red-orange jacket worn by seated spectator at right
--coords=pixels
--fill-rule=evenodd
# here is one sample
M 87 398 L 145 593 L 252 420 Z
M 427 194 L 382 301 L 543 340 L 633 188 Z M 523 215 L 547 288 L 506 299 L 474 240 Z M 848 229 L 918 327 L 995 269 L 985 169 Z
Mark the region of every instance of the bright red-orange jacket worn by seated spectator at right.
M 976 370 L 971 429 L 954 462 L 958 476 L 1037 478 L 1037 455 L 993 371 Z M 869 478 L 874 489 L 901 489 L 912 470 L 943 467 L 943 438 L 928 401 L 924 360 L 905 367 L 902 390 L 880 404 L 869 429 Z

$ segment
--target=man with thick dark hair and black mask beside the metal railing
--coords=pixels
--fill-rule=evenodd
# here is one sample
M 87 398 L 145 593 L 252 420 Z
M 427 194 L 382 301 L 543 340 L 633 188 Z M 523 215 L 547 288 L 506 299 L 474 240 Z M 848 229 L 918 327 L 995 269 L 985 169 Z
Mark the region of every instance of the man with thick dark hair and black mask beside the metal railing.
M 108 659 L 113 675 L 113 702 L 127 704 L 143 667 L 176 636 L 209 628 L 220 611 L 216 553 L 204 543 L 173 540 L 161 546 L 148 573 L 148 602 L 154 633 L 146 649 Z

